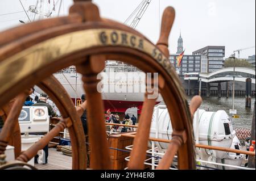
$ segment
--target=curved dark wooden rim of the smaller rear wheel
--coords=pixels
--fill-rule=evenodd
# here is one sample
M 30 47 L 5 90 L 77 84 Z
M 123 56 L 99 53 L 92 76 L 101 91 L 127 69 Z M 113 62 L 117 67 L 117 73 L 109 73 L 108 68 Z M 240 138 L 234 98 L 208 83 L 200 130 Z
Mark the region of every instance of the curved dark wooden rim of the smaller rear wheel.
M 38 83 L 38 86 L 52 98 L 53 102 L 59 108 L 63 119 L 67 119 L 68 117 L 71 119 L 72 126 L 67 125 L 67 127 L 71 136 L 72 168 L 86 169 L 86 145 L 80 120 L 81 112 L 79 114 L 77 113 L 68 92 L 65 91 L 64 87 L 52 75 Z M 85 104 L 83 104 L 83 107 L 85 107 Z

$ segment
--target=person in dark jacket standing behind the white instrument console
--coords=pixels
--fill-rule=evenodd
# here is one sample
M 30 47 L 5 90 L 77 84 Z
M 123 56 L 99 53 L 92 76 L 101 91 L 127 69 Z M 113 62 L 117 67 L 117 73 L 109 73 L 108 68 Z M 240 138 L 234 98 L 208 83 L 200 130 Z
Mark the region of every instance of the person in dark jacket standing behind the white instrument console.
M 53 108 L 50 104 L 46 103 L 47 101 L 47 94 L 42 93 L 39 97 L 38 103 L 33 104 L 32 106 L 46 106 L 48 109 L 48 114 L 50 117 L 55 117 L 56 114 L 53 111 Z M 48 162 L 48 144 L 43 148 L 44 153 L 46 153 L 46 160 L 44 163 Z M 38 163 L 38 155 L 35 155 L 35 163 Z

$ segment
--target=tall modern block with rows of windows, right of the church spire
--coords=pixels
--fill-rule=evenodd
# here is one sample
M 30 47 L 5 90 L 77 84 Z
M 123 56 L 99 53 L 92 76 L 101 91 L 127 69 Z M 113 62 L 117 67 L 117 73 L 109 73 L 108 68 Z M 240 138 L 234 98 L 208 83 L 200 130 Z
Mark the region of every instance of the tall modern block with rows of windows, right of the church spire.
M 225 46 L 207 46 L 192 54 L 207 56 L 207 73 L 224 68 Z

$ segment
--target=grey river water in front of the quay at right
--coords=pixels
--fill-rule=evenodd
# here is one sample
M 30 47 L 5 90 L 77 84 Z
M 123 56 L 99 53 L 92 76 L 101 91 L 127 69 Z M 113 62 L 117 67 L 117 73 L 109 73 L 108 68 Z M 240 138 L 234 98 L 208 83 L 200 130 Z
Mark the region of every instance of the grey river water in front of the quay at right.
M 190 103 L 192 96 L 188 97 L 188 103 Z M 235 98 L 234 99 L 234 110 L 237 110 L 237 115 L 239 118 L 233 119 L 233 127 L 235 128 L 249 128 L 251 129 L 251 121 L 253 120 L 253 108 L 254 108 L 255 98 L 251 98 L 251 108 L 245 107 L 245 98 Z M 209 111 L 224 110 L 228 113 L 231 118 L 232 115 L 229 114 L 229 109 L 232 109 L 232 98 L 217 98 L 203 97 L 203 103 L 200 109 Z

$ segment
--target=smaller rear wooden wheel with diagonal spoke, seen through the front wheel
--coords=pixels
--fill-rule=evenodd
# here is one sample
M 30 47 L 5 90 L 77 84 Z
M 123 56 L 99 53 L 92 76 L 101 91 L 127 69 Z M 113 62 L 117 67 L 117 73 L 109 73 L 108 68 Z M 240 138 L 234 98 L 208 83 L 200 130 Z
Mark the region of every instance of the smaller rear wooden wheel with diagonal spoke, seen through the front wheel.
M 47 79 L 44 79 L 42 82 L 38 83 L 39 87 L 44 90 L 45 92 L 47 92 L 48 95 L 50 95 L 52 97 L 52 99 L 55 101 L 57 107 L 59 107 L 60 112 L 63 114 L 64 117 L 66 117 L 65 119 L 61 120 L 59 122 L 59 124 L 56 125 L 55 128 L 53 128 L 46 136 L 44 136 L 40 141 L 36 142 L 35 145 L 31 146 L 30 149 L 24 151 L 21 155 L 20 155 L 20 151 L 19 153 L 15 154 L 16 157 L 18 157 L 17 159 L 19 161 L 23 161 L 23 162 L 27 162 L 29 161 L 32 157 L 34 157 L 38 150 L 44 148 L 44 146 L 46 146 L 48 144 L 49 141 L 52 140 L 52 138 L 54 136 L 56 136 L 60 131 L 63 131 L 64 128 L 68 128 L 69 129 L 69 133 L 71 135 L 71 144 L 73 146 L 73 154 L 75 154 L 73 157 L 75 159 L 73 159 L 73 168 L 74 169 L 85 169 L 86 168 L 86 157 L 84 155 L 84 151 L 86 153 L 86 149 L 85 149 L 85 140 L 84 139 L 84 133 L 82 131 L 82 126 L 81 126 L 81 121 L 80 121 L 80 117 L 82 112 L 86 109 L 86 102 L 82 103 L 80 105 L 80 107 L 77 107 L 75 109 L 75 107 L 73 106 L 68 106 L 68 105 L 73 105 L 71 99 L 68 96 L 68 93 L 64 90 L 64 88 L 60 85 L 60 83 L 56 80 L 56 78 L 54 78 L 53 76 L 50 76 Z M 22 108 L 24 100 L 26 99 L 27 95 L 30 95 L 32 91 L 30 92 L 25 92 L 26 94 L 20 94 L 14 104 L 13 107 L 15 108 Z M 18 106 L 19 104 L 19 106 Z M 18 110 L 18 109 L 17 109 Z M 17 111 L 15 110 L 15 111 Z M 12 111 L 12 110 L 11 110 Z M 18 125 L 19 128 L 19 124 L 18 124 L 18 116 L 19 116 L 19 112 L 14 112 L 11 113 L 10 111 L 10 117 L 7 117 L 7 120 L 5 122 L 6 125 L 10 125 L 11 126 L 7 126 L 7 129 L 3 128 L 3 132 L 0 133 L 3 135 L 3 137 L 10 137 L 9 140 L 15 140 L 13 146 L 17 149 L 20 150 L 20 131 L 18 129 L 17 131 L 17 135 L 19 135 L 18 139 L 14 139 L 16 138 L 15 135 L 13 134 L 13 130 L 11 129 L 12 125 L 14 124 L 15 121 L 8 121 L 13 119 L 14 116 L 16 116 L 17 121 L 16 124 Z M 17 116 L 18 115 L 18 116 Z M 71 118 L 69 117 L 69 115 L 71 115 Z M 9 123 L 10 122 L 10 123 Z M 78 122 L 78 123 L 77 123 Z M 79 127 L 73 127 L 73 124 L 76 124 Z M 76 131 L 77 130 L 77 131 Z M 9 133 L 9 134 L 6 134 Z M 77 137 L 78 136 L 78 137 Z M 8 138 L 2 139 L 3 141 L 0 141 L 0 150 L 5 150 L 6 146 L 7 146 L 7 141 Z M 16 152 L 15 152 L 16 153 Z M 78 159 L 77 157 L 79 157 L 81 159 Z

